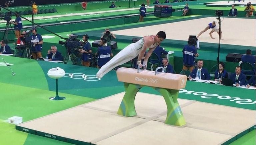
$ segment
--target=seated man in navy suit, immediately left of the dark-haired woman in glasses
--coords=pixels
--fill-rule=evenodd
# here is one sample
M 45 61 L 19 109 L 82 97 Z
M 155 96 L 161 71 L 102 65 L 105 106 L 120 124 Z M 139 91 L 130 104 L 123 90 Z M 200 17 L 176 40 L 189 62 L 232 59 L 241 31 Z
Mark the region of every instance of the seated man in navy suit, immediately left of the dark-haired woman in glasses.
M 198 77 L 201 80 L 210 80 L 210 74 L 208 73 L 208 70 L 203 68 L 204 62 L 202 60 L 199 60 L 197 62 L 197 68 L 193 69 L 191 72 L 189 79 L 195 79 Z

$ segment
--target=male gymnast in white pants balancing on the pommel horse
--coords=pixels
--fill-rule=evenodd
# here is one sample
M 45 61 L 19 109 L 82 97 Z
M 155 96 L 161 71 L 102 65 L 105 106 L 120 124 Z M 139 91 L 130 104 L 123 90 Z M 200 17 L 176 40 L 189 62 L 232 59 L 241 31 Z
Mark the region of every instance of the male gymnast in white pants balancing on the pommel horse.
M 166 38 L 166 34 L 163 31 L 159 31 L 156 36 L 150 35 L 150 36 L 144 36 L 136 43 L 131 43 L 128 46 L 126 46 L 123 50 L 121 50 L 119 53 L 117 53 L 108 63 L 103 65 L 100 70 L 97 72 L 97 77 L 102 78 L 106 73 L 111 71 L 113 68 L 124 64 L 133 58 L 138 56 L 138 67 L 143 67 L 143 69 L 147 68 L 147 62 L 156 48 Z M 149 48 L 145 59 L 143 61 L 143 64 L 141 64 L 141 59 L 144 56 L 147 48 Z

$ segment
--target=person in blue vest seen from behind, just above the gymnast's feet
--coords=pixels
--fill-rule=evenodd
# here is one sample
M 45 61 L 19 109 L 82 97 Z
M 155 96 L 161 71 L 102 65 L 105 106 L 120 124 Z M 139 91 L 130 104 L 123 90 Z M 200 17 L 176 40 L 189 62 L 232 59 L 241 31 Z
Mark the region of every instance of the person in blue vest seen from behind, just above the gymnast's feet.
M 105 65 L 109 60 L 110 57 L 113 56 L 112 50 L 110 46 L 105 45 L 106 40 L 100 38 L 99 41 L 99 48 L 95 55 L 98 55 L 98 68 L 101 68 Z

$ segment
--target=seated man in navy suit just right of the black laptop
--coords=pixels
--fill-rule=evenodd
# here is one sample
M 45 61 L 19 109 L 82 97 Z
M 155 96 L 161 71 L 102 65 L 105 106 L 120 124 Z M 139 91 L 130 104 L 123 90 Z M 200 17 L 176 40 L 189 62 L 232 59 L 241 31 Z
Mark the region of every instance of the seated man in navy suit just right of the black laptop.
M 245 85 L 246 82 L 246 76 L 241 73 L 241 66 L 236 67 L 236 72 L 231 74 L 230 79 L 233 81 L 233 84 L 236 84 L 236 86 L 242 86 Z

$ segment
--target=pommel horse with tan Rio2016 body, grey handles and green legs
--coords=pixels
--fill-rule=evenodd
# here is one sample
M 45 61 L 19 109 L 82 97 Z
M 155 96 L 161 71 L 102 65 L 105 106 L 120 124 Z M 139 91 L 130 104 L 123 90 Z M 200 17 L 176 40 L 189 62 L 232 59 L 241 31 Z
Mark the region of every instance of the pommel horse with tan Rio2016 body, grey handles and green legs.
M 185 88 L 187 76 L 179 74 L 170 74 L 156 71 L 136 70 L 132 68 L 119 68 L 117 73 L 118 81 L 124 82 L 125 95 L 117 111 L 117 114 L 123 116 L 137 115 L 134 100 L 137 92 L 143 86 L 149 86 L 160 92 L 167 105 L 166 124 L 182 126 L 186 124 L 180 105 L 177 101 L 179 90 Z

